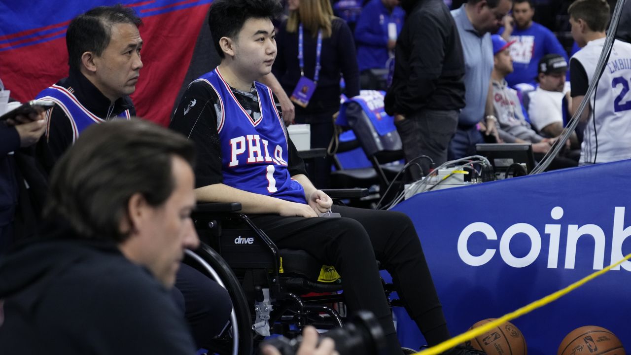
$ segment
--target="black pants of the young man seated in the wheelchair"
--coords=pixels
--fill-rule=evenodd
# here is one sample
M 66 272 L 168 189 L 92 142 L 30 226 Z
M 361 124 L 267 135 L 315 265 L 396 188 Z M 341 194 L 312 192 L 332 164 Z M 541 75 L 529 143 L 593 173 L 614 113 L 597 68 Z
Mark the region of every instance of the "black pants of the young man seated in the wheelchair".
M 376 260 L 429 344 L 449 338 L 442 307 L 410 218 L 400 212 L 334 206 L 342 218 L 251 215 L 279 248 L 305 250 L 342 276 L 349 310 L 369 310 L 384 328 L 387 354 L 401 354 Z

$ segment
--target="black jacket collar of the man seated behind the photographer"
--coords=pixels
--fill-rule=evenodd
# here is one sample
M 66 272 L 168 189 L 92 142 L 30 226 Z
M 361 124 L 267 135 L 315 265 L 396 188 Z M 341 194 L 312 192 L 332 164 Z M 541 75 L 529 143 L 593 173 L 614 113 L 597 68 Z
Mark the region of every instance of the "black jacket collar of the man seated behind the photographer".
M 134 108 L 131 98 L 125 95 L 114 102 L 114 109 L 112 110 L 112 108 L 110 108 L 112 105 L 110 99 L 105 97 L 105 95 L 78 70 L 70 69 L 68 78 L 60 80 L 57 85 L 68 88 L 88 111 L 102 119 L 117 116 L 127 109 L 133 110 Z M 136 112 L 131 112 L 131 114 L 135 115 Z

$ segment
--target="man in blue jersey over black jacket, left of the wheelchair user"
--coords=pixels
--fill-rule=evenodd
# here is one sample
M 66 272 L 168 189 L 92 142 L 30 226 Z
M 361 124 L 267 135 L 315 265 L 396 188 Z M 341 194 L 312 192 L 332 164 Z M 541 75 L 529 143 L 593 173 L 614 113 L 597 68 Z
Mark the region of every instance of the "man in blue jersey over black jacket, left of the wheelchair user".
M 57 104 L 47 112 L 38 147 L 46 171 L 90 124 L 135 116 L 129 95 L 143 68 L 141 23 L 133 9 L 116 5 L 91 9 L 68 25 L 68 78 L 37 95 Z

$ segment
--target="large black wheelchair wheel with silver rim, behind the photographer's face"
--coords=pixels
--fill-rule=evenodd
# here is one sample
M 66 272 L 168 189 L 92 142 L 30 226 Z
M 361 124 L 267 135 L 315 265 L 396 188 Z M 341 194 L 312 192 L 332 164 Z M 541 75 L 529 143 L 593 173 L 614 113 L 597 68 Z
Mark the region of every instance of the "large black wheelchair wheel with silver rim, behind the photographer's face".
M 186 250 L 187 258 L 194 260 L 196 268 L 225 288 L 232 300 L 230 323 L 220 335 L 209 342 L 208 354 L 250 355 L 253 352 L 252 318 L 239 280 L 221 256 L 201 243 L 198 250 Z

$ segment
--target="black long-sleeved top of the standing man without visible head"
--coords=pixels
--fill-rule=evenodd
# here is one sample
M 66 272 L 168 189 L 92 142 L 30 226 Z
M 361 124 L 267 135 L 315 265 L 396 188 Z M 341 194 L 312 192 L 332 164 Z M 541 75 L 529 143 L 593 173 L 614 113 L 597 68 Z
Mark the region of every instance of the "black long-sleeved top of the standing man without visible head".
M 420 109 L 463 108 L 463 48 L 449 9 L 442 0 L 408 6 L 395 49 L 386 112 L 406 115 Z

